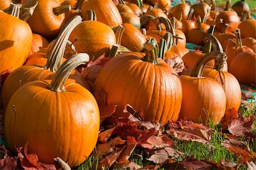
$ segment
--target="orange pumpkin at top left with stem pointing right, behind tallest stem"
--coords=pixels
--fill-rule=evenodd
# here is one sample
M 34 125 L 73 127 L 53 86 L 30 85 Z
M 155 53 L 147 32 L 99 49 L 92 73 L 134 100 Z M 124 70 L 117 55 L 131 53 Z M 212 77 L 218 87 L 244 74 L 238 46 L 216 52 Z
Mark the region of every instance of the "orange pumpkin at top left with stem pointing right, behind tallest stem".
M 22 7 L 34 5 L 36 0 L 28 0 Z M 27 23 L 35 34 L 40 34 L 46 38 L 52 38 L 59 34 L 64 26 L 64 14 L 55 15 L 53 8 L 60 6 L 56 0 L 38 0 L 33 15 L 28 18 Z

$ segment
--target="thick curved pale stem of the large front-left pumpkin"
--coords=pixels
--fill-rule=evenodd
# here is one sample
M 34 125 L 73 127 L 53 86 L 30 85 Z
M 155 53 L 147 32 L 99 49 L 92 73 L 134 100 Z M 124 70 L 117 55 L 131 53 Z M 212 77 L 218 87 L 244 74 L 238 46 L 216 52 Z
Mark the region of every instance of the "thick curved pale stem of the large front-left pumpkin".
M 48 89 L 54 92 L 65 92 L 65 82 L 73 69 L 89 61 L 89 55 L 86 53 L 78 53 L 69 57 L 57 70 L 51 84 L 48 85 Z

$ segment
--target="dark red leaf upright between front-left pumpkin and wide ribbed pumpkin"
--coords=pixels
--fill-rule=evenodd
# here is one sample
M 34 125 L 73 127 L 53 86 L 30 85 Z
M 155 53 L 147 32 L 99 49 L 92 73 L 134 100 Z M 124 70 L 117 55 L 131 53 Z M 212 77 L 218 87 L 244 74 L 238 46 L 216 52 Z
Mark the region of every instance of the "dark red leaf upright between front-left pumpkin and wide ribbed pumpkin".
M 97 99 L 98 107 L 100 109 L 101 122 L 105 118 L 110 117 L 115 112 L 117 105 L 106 105 L 106 91 L 101 89 L 100 92 L 94 94 L 94 97 Z

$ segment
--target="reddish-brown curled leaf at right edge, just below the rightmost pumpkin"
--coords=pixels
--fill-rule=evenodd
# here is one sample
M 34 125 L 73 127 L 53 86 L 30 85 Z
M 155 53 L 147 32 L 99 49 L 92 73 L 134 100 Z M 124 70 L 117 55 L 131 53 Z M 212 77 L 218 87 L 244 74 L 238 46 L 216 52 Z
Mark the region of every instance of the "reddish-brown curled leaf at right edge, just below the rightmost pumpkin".
M 236 136 L 243 136 L 246 130 L 251 130 L 251 125 L 254 122 L 254 115 L 249 117 L 240 117 L 238 119 L 229 119 L 223 123 L 222 129 L 228 130 L 231 134 Z

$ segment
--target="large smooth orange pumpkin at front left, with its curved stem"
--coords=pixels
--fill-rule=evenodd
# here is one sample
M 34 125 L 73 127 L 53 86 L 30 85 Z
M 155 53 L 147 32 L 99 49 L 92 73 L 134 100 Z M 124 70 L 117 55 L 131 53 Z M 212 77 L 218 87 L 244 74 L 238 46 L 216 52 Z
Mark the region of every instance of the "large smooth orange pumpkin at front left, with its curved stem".
M 100 127 L 97 102 L 88 90 L 67 80 L 73 69 L 89 61 L 86 54 L 78 56 L 68 59 L 52 81 L 29 82 L 11 98 L 5 135 L 13 152 L 28 142 L 28 152 L 43 163 L 60 157 L 73 168 L 93 151 Z

